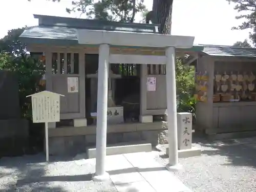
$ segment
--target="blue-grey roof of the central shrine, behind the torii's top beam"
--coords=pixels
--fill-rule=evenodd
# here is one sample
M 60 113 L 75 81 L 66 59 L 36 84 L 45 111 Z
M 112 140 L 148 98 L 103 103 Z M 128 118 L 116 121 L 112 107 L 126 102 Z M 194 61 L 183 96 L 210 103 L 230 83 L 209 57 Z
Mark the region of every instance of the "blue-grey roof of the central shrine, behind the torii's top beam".
M 110 22 L 96 19 L 80 19 L 34 15 L 38 26 L 28 27 L 20 38 L 28 44 L 78 45 L 76 30 L 102 30 L 134 33 L 158 33 L 158 25 Z

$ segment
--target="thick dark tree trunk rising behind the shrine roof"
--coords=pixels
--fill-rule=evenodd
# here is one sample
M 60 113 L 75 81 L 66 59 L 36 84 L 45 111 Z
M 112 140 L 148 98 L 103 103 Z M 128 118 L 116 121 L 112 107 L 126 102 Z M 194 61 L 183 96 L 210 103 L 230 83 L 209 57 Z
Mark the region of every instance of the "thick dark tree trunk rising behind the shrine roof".
M 153 0 L 153 12 L 156 24 L 160 24 L 159 32 L 170 35 L 172 27 L 173 0 Z

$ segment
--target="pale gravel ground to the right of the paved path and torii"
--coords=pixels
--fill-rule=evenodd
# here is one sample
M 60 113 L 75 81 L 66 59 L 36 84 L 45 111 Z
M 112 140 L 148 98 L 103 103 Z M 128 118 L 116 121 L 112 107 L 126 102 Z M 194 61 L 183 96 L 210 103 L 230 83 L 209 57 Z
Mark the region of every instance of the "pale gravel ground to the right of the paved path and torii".
M 194 146 L 202 149 L 199 157 L 179 159 L 183 169 L 177 173 L 194 192 L 256 191 L 256 138 L 207 143 L 202 139 Z M 166 145 L 158 148 L 165 152 Z M 168 163 L 165 155 L 159 162 Z

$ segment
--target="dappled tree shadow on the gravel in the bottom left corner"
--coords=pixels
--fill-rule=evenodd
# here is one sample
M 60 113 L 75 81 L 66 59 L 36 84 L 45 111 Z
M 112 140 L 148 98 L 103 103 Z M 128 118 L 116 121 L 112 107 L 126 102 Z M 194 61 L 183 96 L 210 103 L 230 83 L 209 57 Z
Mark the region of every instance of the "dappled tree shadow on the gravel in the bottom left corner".
M 49 186 L 47 182 L 31 184 L 17 182 L 45 176 L 46 164 L 40 155 L 2 158 L 0 165 L 0 191 L 67 191 L 62 187 Z

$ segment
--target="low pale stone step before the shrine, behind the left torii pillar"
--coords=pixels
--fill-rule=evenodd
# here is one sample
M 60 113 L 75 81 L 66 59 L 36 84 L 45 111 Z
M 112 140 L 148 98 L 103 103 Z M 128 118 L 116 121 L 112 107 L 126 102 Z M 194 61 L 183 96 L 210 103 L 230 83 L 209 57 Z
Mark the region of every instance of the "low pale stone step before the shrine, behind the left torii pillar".
M 120 143 L 119 146 L 106 147 L 106 155 L 119 155 L 138 152 L 152 152 L 152 145 L 150 143 L 134 145 L 129 145 L 128 143 Z M 88 148 L 87 155 L 89 159 L 96 158 L 96 148 Z

